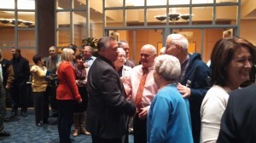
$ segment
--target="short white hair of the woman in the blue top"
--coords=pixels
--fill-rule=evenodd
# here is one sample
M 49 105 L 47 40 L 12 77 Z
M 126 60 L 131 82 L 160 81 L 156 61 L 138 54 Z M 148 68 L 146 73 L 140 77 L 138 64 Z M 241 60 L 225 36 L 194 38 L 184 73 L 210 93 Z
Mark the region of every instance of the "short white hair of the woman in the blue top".
M 157 72 L 166 81 L 176 81 L 181 74 L 179 60 L 172 55 L 159 55 L 154 60 L 154 72 Z

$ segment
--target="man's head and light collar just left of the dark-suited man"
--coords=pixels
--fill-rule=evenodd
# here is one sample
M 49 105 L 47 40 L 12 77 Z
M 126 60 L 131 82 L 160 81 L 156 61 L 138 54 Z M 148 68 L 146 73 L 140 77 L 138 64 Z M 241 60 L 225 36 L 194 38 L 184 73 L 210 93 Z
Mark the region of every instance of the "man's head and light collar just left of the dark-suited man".
M 94 53 L 94 49 L 90 46 L 84 46 L 83 54 L 84 54 L 84 62 L 85 66 L 90 68 L 96 57 L 92 54 Z

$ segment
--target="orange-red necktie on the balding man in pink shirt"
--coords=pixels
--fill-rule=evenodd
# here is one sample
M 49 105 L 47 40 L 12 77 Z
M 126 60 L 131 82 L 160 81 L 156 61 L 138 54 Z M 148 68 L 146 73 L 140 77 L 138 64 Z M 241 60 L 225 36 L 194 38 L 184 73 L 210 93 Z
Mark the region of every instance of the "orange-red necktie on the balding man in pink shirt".
M 147 74 L 148 74 L 148 68 L 143 67 L 143 77 L 141 78 L 141 83 L 139 84 L 139 87 L 137 89 L 136 98 L 135 98 L 135 105 L 137 106 L 137 108 L 142 107 L 143 90 L 144 90 L 144 86 L 146 83 Z

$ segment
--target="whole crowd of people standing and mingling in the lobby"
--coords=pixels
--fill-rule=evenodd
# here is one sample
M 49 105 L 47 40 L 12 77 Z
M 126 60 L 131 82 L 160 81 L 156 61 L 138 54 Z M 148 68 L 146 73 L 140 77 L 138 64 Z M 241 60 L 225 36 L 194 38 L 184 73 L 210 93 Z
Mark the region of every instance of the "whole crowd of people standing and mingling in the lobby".
M 240 37 L 220 39 L 211 66 L 188 48 L 187 38 L 173 33 L 160 55 L 143 45 L 137 65 L 126 41 L 102 37 L 97 57 L 88 45 L 79 54 L 74 44 L 61 54 L 51 46 L 46 61 L 35 54 L 31 67 L 20 49 L 12 49 L 12 60 L 0 50 L 0 136 L 10 135 L 3 121 L 17 116 L 19 105 L 26 117 L 24 89 L 32 74 L 36 126 L 49 123 L 50 105 L 61 143 L 72 142 L 72 124 L 74 137 L 91 135 L 93 143 L 128 143 L 131 130 L 134 143 L 255 141 L 256 87 L 240 88 L 250 78 L 255 46 Z

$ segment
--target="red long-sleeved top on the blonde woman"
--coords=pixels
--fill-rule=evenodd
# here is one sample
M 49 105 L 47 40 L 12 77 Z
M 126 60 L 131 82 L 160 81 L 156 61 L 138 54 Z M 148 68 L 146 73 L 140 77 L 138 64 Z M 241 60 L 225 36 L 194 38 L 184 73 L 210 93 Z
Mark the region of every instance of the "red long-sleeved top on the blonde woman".
M 75 81 L 75 72 L 70 62 L 61 63 L 58 71 L 59 86 L 57 88 L 57 100 L 77 100 L 81 101 L 79 89 Z

